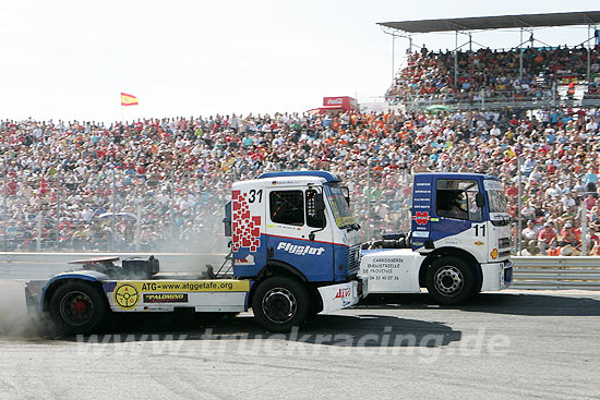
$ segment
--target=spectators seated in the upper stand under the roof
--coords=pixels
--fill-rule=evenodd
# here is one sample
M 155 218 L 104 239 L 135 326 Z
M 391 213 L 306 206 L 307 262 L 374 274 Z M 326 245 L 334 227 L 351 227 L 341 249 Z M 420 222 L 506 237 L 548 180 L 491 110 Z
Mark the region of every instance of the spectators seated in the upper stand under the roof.
M 457 80 L 455 84 L 455 52 L 432 52 L 422 48 L 408 56 L 387 90 L 394 101 L 416 97 L 435 98 L 437 101 L 487 101 L 497 98 L 524 99 L 551 98 L 556 86 L 586 81 L 587 48 L 559 46 L 556 48 L 524 48 L 523 76 L 519 49 L 478 50 L 457 52 Z M 590 51 L 590 93 L 600 88 L 600 45 Z

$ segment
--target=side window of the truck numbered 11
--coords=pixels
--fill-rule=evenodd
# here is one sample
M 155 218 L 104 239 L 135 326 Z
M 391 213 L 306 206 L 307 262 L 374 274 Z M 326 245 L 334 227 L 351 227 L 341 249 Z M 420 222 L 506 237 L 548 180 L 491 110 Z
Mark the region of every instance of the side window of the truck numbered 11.
M 440 217 L 481 221 L 477 181 L 440 179 L 435 187 L 435 211 Z

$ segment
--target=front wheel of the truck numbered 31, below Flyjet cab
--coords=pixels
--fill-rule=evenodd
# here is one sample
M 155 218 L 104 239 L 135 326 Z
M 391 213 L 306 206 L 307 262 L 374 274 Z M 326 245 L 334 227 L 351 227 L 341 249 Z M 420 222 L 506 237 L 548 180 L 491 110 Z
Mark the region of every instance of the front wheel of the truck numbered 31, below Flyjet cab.
M 293 278 L 268 278 L 256 288 L 252 296 L 252 312 L 266 330 L 288 332 L 300 326 L 311 311 L 309 293 Z

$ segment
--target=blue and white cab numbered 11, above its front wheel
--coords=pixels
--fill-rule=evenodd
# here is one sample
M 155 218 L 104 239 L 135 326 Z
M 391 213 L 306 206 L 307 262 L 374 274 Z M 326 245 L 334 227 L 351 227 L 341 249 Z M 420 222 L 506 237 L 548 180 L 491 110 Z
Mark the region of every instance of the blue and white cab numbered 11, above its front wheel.
M 458 247 L 478 263 L 511 256 L 511 226 L 499 179 L 467 173 L 419 173 L 412 187 L 412 250 Z

